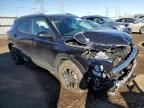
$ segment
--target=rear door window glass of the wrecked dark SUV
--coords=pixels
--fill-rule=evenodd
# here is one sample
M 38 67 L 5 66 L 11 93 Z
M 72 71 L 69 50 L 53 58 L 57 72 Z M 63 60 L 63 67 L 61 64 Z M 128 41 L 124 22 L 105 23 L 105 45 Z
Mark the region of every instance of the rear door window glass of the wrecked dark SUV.
M 18 30 L 23 33 L 31 34 L 31 20 L 23 20 L 18 26 Z

